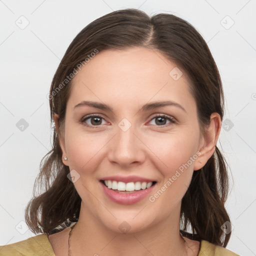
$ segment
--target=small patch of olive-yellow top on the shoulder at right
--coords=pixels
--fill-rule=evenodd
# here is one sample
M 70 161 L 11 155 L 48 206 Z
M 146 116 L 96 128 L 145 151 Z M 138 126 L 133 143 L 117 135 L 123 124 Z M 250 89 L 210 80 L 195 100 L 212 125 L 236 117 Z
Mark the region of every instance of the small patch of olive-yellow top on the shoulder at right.
M 238 254 L 206 240 L 201 240 L 198 256 L 239 256 Z

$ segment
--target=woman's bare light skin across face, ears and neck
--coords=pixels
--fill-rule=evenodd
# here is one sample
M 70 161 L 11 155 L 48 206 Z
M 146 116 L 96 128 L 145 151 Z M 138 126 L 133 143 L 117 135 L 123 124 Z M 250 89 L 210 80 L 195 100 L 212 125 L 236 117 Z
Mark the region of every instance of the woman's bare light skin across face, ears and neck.
M 73 78 L 64 129 L 59 129 L 58 115 L 54 116 L 62 156 L 67 157 L 63 163 L 80 175 L 74 182 L 82 202 L 70 241 L 72 255 L 198 254 L 199 242 L 188 238 L 184 242 L 179 235 L 181 199 L 193 171 L 213 154 L 221 120 L 212 113 L 210 124 L 203 134 L 200 132 L 195 99 L 185 73 L 178 80 L 169 75 L 175 66 L 158 51 L 144 47 L 105 50 Z M 74 108 L 83 100 L 103 102 L 113 111 L 91 106 Z M 145 103 L 164 100 L 174 101 L 184 110 L 169 105 L 139 111 Z M 93 113 L 103 117 L 100 125 L 93 118 L 79 122 Z M 155 114 L 165 114 L 175 122 L 163 119 L 159 124 Z M 131 124 L 126 131 L 118 126 L 123 118 Z M 99 179 L 103 176 L 138 175 L 157 181 L 153 195 L 198 151 L 200 156 L 154 202 L 146 196 L 137 203 L 122 205 L 102 192 Z M 130 226 L 127 233 L 118 228 L 123 221 Z M 68 231 L 66 228 L 49 235 L 57 256 L 67 255 Z

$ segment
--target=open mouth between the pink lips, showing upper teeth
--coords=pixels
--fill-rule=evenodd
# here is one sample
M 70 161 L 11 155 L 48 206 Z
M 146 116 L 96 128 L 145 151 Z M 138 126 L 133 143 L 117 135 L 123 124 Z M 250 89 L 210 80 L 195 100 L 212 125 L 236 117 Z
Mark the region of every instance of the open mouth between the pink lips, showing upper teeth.
M 111 189 L 117 193 L 136 193 L 141 190 L 147 190 L 153 187 L 156 183 L 156 181 L 135 181 L 126 183 L 123 181 L 109 179 L 100 179 L 100 182 L 108 189 Z

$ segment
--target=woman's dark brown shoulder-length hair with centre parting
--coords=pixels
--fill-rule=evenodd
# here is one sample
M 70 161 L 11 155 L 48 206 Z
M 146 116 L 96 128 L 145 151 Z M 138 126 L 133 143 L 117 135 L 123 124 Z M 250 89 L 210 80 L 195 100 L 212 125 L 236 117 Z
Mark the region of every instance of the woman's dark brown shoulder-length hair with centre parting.
M 222 121 L 224 98 L 220 75 L 206 42 L 191 24 L 173 14 L 158 13 L 150 17 L 133 8 L 113 11 L 97 18 L 72 40 L 51 82 L 52 149 L 40 162 L 33 198 L 25 209 L 25 220 L 33 233 L 50 234 L 79 218 L 81 198 L 67 178 L 70 170 L 62 163 L 60 134 L 54 126 L 54 114 L 59 115 L 60 131 L 64 124 L 72 84 L 72 79 L 67 80 L 66 77 L 74 72 L 79 63 L 84 66 L 84 60 L 93 56 L 95 50 L 100 52 L 135 46 L 157 50 L 184 71 L 196 101 L 200 128 L 209 124 L 213 112 L 217 112 Z M 43 192 L 36 194 L 36 188 L 43 189 Z M 182 198 L 180 231 L 189 237 L 187 227 L 190 226 L 192 239 L 204 239 L 225 247 L 231 234 L 221 229 L 224 222 L 230 222 L 224 207 L 228 189 L 227 164 L 215 146 L 206 164 L 193 172 Z

